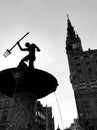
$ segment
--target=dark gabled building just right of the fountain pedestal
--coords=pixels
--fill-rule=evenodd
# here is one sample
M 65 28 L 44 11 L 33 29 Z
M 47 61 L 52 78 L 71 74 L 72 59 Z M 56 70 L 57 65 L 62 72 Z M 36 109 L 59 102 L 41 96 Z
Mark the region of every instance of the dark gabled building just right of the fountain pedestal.
M 52 116 L 52 107 L 42 106 L 40 101 L 36 102 L 35 122 L 39 130 L 55 130 L 54 117 Z

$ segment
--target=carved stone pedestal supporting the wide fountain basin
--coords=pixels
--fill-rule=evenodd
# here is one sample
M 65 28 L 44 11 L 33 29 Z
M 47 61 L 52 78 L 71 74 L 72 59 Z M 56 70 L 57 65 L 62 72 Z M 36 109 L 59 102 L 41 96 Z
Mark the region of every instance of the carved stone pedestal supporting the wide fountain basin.
M 9 130 L 36 130 L 35 102 L 36 96 L 31 93 L 18 93 L 14 96 L 16 108 L 10 119 Z

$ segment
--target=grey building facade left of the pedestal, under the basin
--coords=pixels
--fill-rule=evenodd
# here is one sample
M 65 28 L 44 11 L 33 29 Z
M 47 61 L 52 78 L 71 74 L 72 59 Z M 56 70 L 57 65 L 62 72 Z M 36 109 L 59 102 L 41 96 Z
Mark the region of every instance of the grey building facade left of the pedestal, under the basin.
M 10 117 L 14 111 L 12 99 L 0 93 L 0 130 L 7 130 L 10 125 Z

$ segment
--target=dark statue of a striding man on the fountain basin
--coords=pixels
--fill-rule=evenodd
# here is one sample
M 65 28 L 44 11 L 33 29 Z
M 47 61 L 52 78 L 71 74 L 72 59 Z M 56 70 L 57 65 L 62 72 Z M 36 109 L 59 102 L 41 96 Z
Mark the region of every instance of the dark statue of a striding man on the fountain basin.
M 26 48 L 22 48 L 20 43 L 17 42 L 19 48 L 21 51 L 28 51 L 29 54 L 27 56 L 25 56 L 19 63 L 19 66 L 24 66 L 25 65 L 25 61 L 29 61 L 29 67 L 34 68 L 34 61 L 36 59 L 35 57 L 35 51 L 40 51 L 39 47 L 36 46 L 36 44 L 32 43 L 30 44 L 29 42 L 25 43 Z

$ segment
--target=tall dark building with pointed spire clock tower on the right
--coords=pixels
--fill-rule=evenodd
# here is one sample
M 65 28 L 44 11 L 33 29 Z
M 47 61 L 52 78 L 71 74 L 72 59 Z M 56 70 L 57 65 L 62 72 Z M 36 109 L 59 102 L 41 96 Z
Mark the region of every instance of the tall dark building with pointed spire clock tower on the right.
M 97 49 L 83 51 L 69 18 L 67 26 L 66 53 L 80 126 L 97 130 Z

